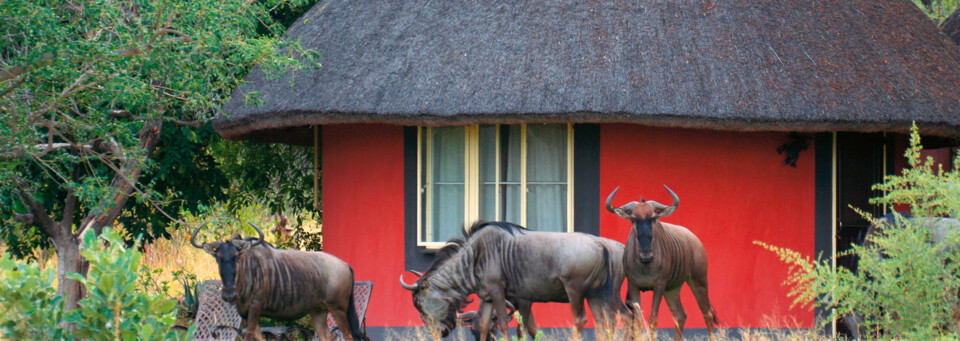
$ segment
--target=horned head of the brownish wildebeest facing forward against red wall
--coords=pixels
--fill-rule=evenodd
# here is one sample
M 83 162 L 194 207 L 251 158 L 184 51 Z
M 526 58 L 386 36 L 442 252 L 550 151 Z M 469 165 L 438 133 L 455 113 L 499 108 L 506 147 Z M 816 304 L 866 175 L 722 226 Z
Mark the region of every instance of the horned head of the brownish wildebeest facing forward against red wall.
M 640 199 L 640 202 L 632 201 L 626 205 L 614 208 L 611 204 L 613 196 L 617 194 L 620 187 L 613 190 L 607 197 L 607 211 L 620 216 L 623 219 L 630 220 L 636 229 L 637 244 L 640 251 L 640 261 L 650 263 L 653 261 L 653 225 L 657 224 L 658 219 L 669 216 L 680 205 L 680 199 L 677 194 L 670 190 L 670 187 L 663 185 L 663 188 L 670 192 L 673 198 L 673 205 L 667 206 L 653 200 Z

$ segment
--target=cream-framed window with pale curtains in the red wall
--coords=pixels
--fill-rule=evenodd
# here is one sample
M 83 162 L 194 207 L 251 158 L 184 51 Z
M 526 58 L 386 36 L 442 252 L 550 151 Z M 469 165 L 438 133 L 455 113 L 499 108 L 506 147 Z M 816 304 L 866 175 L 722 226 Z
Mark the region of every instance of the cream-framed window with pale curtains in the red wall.
M 418 129 L 417 245 L 437 247 L 478 219 L 573 231 L 573 127 Z

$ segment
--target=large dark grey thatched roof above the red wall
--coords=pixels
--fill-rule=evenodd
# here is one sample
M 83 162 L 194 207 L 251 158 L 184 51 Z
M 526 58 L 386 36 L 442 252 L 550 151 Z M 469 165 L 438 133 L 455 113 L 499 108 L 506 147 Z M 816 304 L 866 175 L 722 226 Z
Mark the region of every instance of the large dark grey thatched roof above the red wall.
M 287 32 L 323 68 L 260 70 L 214 127 L 630 122 L 960 135 L 960 50 L 909 0 L 323 0 Z M 292 80 L 292 85 L 291 85 Z M 245 107 L 259 92 L 264 104 Z

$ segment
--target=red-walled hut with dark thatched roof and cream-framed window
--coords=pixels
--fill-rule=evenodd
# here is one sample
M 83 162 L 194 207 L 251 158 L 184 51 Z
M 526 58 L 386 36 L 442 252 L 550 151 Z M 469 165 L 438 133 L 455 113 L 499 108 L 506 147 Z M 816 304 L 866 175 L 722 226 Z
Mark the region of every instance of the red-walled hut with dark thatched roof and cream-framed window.
M 848 204 L 880 210 L 869 185 L 911 122 L 960 136 L 960 50 L 907 0 L 321 0 L 287 38 L 323 68 L 254 70 L 214 127 L 319 141 L 325 251 L 377 284 L 373 334 L 420 324 L 396 278 L 465 223 L 623 242 L 601 196 L 669 201 L 662 184 L 728 326 L 811 327 L 751 242 L 836 252 L 865 224 Z M 571 325 L 566 307 L 534 312 Z

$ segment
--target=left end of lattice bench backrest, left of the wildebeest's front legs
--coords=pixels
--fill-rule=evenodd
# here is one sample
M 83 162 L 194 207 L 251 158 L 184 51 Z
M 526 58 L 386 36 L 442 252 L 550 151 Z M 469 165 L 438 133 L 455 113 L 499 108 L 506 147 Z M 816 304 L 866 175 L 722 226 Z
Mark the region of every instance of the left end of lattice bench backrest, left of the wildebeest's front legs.
M 193 333 L 194 340 L 203 341 L 232 341 L 237 339 L 236 329 L 240 328 L 240 314 L 232 303 L 220 298 L 222 284 L 220 281 L 203 281 L 200 289 L 200 306 L 197 308 L 197 330 Z M 232 327 L 217 328 L 220 326 Z M 216 333 L 214 333 L 216 332 Z M 216 336 L 215 336 L 216 335 Z

